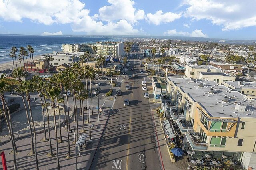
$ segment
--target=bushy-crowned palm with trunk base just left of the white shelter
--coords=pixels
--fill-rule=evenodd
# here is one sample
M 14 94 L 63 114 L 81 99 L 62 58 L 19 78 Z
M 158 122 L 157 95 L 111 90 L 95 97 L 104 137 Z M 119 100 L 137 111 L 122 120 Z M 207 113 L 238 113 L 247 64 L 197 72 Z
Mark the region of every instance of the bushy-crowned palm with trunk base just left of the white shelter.
M 67 77 L 66 77 L 66 72 L 65 71 L 62 71 L 60 73 L 57 74 L 56 76 L 56 82 L 58 83 L 59 87 L 60 87 L 60 91 L 65 91 L 65 93 L 67 94 L 67 89 L 65 88 L 66 84 L 67 84 Z M 68 155 L 67 157 L 70 157 L 70 142 L 69 142 L 69 114 L 67 116 L 66 114 L 66 106 L 65 106 L 65 101 L 64 101 L 64 95 L 63 93 L 62 94 L 62 102 L 63 102 L 63 105 L 64 105 L 64 115 L 65 115 L 65 120 L 66 120 L 66 123 L 68 124 L 68 129 L 66 130 L 67 131 L 67 136 L 68 136 Z M 66 97 L 68 97 L 66 95 Z M 68 99 L 67 99 L 67 103 L 68 103 Z M 67 106 L 68 107 L 68 106 Z M 69 113 L 69 112 L 68 112 Z

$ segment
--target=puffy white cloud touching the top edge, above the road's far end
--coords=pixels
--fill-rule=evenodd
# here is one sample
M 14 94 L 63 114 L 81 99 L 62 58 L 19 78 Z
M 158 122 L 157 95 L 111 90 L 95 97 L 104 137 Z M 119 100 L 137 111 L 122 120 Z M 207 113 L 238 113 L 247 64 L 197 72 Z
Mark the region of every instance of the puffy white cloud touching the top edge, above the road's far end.
M 99 9 L 98 18 L 104 21 L 127 20 L 137 22 L 145 17 L 144 10 L 136 10 L 132 0 L 108 0 L 110 6 L 103 6 Z

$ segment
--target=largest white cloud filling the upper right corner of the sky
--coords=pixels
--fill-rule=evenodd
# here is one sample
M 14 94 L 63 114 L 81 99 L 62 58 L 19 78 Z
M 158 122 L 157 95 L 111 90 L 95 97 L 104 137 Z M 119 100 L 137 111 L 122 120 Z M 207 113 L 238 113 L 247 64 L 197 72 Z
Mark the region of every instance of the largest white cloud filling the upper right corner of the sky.
M 255 0 L 184 0 L 184 16 L 207 19 L 222 26 L 223 31 L 256 26 Z

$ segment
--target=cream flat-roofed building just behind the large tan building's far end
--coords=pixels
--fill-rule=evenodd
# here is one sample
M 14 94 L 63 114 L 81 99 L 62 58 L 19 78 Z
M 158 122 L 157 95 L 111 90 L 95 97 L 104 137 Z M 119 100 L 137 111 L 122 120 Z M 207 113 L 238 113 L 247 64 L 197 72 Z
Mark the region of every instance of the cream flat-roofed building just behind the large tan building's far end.
M 198 79 L 200 72 L 214 72 L 219 73 L 221 69 L 212 65 L 186 65 L 185 66 L 185 78 Z

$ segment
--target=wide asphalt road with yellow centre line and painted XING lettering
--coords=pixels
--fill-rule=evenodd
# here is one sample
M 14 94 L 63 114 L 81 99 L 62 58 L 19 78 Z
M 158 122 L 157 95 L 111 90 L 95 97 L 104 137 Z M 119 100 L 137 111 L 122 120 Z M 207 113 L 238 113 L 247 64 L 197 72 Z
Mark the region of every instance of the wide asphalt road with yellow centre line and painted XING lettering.
M 139 57 L 140 54 L 133 54 Z M 140 61 L 130 63 L 134 73 Z M 102 142 L 94 158 L 91 169 L 126 169 L 126 170 L 160 170 L 156 148 L 153 122 L 150 113 L 149 99 L 144 99 L 141 81 L 146 74 L 139 74 L 136 79 L 122 81 L 122 95 L 117 96 L 113 114 L 110 116 Z M 125 90 L 126 84 L 131 85 Z M 124 106 L 124 99 L 130 100 Z

